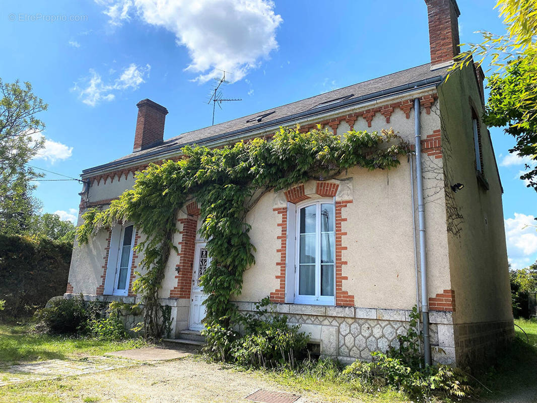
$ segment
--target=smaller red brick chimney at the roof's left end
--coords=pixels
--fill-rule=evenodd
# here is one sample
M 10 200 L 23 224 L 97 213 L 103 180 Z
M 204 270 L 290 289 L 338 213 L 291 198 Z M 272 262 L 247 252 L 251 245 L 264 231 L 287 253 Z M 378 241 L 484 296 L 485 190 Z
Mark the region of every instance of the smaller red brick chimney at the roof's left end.
M 136 106 L 138 118 L 133 151 L 140 151 L 164 139 L 164 120 L 168 110 L 150 99 L 142 99 Z

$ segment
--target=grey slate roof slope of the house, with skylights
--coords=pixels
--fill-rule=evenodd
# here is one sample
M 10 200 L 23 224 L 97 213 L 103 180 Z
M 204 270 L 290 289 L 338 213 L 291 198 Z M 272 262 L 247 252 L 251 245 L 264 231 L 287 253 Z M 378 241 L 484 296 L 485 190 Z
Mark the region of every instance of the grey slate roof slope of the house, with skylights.
M 290 104 L 253 113 L 242 118 L 179 134 L 171 139 L 164 140 L 154 147 L 130 153 L 110 163 L 85 169 L 83 172 L 88 173 L 133 160 L 141 160 L 146 156 L 149 157 L 151 155 L 165 153 L 168 150 L 178 149 L 187 144 L 208 142 L 214 137 L 225 135 L 226 133 L 233 134 L 233 132 L 236 131 L 248 131 L 249 128 L 255 129 L 256 127 L 259 127 L 260 123 L 270 125 L 271 122 L 276 123 L 275 121 L 279 119 L 281 120 L 282 118 L 293 116 L 294 114 L 301 112 L 311 111 L 311 114 L 313 115 L 317 109 L 319 113 L 324 111 L 325 108 L 321 109 L 321 107 L 327 104 L 337 107 L 338 104 L 343 105 L 343 102 L 352 102 L 353 99 L 358 100 L 357 98 L 380 91 L 396 89 L 405 84 L 420 82 L 436 77 L 441 80 L 446 74 L 446 69 L 436 69 L 431 71 L 430 63 L 422 64 L 422 66 L 412 67 L 410 69 L 398 71 L 397 73 L 374 78 L 373 80 L 349 85 L 349 87 L 325 92 Z

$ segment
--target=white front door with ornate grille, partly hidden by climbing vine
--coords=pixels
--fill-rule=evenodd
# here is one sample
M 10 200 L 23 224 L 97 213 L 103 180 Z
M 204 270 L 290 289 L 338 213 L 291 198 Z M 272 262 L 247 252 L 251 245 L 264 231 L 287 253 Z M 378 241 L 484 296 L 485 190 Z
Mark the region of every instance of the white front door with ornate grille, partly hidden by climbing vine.
M 205 319 L 205 305 L 203 302 L 207 295 L 200 286 L 200 277 L 204 274 L 211 259 L 207 254 L 205 242 L 197 242 L 194 253 L 194 267 L 192 271 L 192 291 L 190 293 L 190 330 L 201 330 L 204 328 L 202 321 Z

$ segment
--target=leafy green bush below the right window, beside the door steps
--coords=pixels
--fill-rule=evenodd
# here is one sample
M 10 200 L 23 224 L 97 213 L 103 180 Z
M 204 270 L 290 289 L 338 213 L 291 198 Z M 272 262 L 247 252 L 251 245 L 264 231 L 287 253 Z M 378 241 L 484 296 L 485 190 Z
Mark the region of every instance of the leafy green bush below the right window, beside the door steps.
M 299 332 L 300 326 L 288 325 L 287 317 L 267 313 L 269 298 L 256 305 L 256 314 L 241 315 L 241 332 L 218 323 L 208 325 L 202 334 L 206 354 L 221 361 L 266 368 L 288 365 L 293 368 L 306 354 L 309 337 Z

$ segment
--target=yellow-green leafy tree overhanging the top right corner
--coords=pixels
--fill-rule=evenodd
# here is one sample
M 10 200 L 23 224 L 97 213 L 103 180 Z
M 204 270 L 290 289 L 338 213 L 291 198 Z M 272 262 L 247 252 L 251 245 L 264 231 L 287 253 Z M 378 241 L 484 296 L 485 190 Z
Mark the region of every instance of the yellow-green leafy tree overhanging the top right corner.
M 506 26 L 505 35 L 481 31 L 484 41 L 469 44 L 452 70 L 474 60 L 491 57 L 497 70 L 488 78 L 490 96 L 484 121 L 489 126 L 508 126 L 505 132 L 517 144 L 509 151 L 535 161 L 520 176 L 537 191 L 537 0 L 499 0 L 496 4 Z

